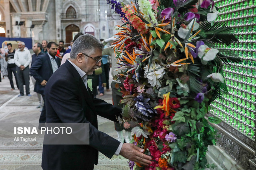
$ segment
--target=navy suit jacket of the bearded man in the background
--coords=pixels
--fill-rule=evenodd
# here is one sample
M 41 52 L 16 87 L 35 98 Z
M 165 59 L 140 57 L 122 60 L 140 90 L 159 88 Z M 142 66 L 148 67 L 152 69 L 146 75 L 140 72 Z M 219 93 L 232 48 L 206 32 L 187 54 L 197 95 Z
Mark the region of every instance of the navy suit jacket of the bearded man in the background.
M 60 67 L 60 59 L 55 57 L 58 67 Z M 30 74 L 36 79 L 34 92 L 44 94 L 45 86 L 41 85 L 43 80 L 48 82 L 53 74 L 51 60 L 48 54 L 40 55 L 34 61 L 30 68 Z

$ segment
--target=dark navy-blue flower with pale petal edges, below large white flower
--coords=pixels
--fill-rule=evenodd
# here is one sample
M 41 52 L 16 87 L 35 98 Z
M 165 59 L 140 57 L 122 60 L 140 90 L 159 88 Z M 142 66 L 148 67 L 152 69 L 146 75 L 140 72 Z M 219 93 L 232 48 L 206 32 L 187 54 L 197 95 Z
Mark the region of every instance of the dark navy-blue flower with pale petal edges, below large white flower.
M 148 101 L 150 98 L 143 98 L 142 94 L 138 95 L 134 101 L 136 101 L 136 108 L 142 115 L 145 115 L 147 118 L 153 117 L 154 114 L 156 114 L 156 110 L 153 109 L 150 104 L 148 104 Z

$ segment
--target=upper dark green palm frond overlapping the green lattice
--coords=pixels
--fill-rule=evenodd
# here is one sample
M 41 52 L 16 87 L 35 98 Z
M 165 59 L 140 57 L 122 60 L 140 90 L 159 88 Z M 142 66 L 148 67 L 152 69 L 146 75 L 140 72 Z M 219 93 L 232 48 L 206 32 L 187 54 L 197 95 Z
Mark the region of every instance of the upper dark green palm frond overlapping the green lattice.
M 233 28 L 228 27 L 226 23 L 202 21 L 200 23 L 201 32 L 198 34 L 204 39 L 210 39 L 214 43 L 230 43 L 237 42 L 238 39 L 233 34 Z

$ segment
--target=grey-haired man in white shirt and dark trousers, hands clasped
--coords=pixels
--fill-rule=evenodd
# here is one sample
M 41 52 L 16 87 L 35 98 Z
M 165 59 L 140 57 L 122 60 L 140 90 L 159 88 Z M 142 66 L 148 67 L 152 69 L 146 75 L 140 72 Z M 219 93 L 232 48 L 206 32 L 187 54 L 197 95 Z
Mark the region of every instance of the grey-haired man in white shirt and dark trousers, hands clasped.
M 26 85 L 26 95 L 31 96 L 29 90 L 29 64 L 31 63 L 31 53 L 25 49 L 25 43 L 20 41 L 18 43 L 18 50 L 14 53 L 14 63 L 16 64 L 17 79 L 20 89 L 20 96 L 24 96 L 23 85 Z

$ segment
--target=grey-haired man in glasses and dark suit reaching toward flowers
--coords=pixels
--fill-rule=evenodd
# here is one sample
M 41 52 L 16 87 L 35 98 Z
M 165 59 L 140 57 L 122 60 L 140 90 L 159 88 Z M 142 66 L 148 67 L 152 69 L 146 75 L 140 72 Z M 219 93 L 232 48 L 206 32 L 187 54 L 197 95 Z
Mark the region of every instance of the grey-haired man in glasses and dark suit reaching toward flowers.
M 101 66 L 104 45 L 90 34 L 74 42 L 70 59 L 52 75 L 45 88 L 47 123 L 89 123 L 89 145 L 44 145 L 44 170 L 93 170 L 98 151 L 108 158 L 125 158 L 149 165 L 151 157 L 131 143 L 120 143 L 98 131 L 97 115 L 116 121 L 121 109 L 96 98 L 87 86 L 87 76 Z

